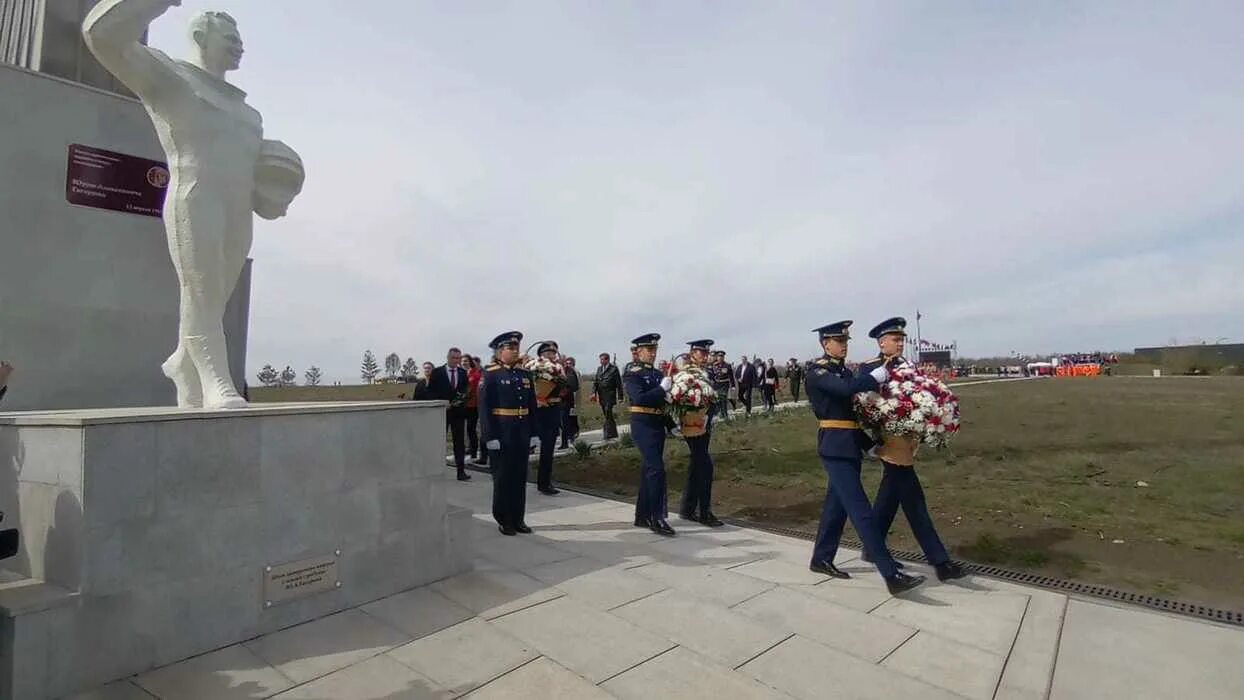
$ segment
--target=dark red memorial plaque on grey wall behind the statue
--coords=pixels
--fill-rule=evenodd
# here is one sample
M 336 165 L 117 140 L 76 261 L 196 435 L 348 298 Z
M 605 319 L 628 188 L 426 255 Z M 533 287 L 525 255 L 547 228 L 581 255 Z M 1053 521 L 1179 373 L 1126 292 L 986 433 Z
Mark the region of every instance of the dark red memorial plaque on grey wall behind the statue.
M 159 216 L 168 179 L 168 165 L 159 160 L 72 143 L 65 199 L 82 206 Z

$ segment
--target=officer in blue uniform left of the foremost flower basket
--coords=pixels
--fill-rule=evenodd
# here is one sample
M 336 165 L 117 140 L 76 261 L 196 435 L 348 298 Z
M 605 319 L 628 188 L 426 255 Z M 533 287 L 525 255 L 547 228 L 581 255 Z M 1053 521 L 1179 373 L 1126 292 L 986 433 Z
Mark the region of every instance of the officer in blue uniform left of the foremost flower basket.
M 852 397 L 877 390 L 878 383 L 888 375 L 886 367 L 870 374 L 856 377 L 846 367 L 847 343 L 851 339 L 851 321 L 838 321 L 816 328 L 825 356 L 812 363 L 807 373 L 807 402 L 820 420 L 816 451 L 830 477 L 821 507 L 821 523 L 816 531 L 810 569 L 832 578 L 851 578 L 833 566 L 833 556 L 842 538 L 847 517 L 863 541 L 865 551 L 876 560 L 877 572 L 886 579 L 889 593 L 911 591 L 924 582 L 922 576 L 908 576 L 898 571 L 893 557 L 886 550 L 884 540 L 873 521 L 872 506 L 860 482 L 861 451 L 871 440 L 856 423 Z

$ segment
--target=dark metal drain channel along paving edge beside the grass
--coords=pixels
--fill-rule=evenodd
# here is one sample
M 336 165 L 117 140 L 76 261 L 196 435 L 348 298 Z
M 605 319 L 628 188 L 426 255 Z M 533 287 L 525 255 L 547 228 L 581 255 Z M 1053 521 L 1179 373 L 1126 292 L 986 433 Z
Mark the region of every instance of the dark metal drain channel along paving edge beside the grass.
M 583 494 L 585 496 L 596 496 L 597 499 L 607 499 L 611 501 L 627 502 L 618 497 L 617 494 L 611 494 L 608 491 L 600 491 L 597 489 L 588 489 L 585 486 L 566 486 L 565 484 L 557 484 L 559 489 L 565 489 L 566 491 L 572 491 L 576 494 Z M 804 530 L 795 530 L 791 527 L 776 527 L 770 525 L 764 525 L 760 522 L 754 522 L 749 520 L 738 520 L 733 517 L 723 517 L 724 522 L 733 525 L 735 527 L 745 527 L 750 530 L 759 530 L 761 532 L 769 532 L 773 535 L 782 535 L 785 537 L 794 537 L 797 540 L 807 540 L 809 542 L 816 540 L 816 533 L 806 532 Z M 862 550 L 862 545 L 858 540 L 850 537 L 842 538 L 842 545 L 852 550 Z M 891 550 L 891 555 L 896 560 L 902 560 L 907 562 L 928 563 L 924 555 L 919 552 L 906 552 L 899 550 Z M 958 561 L 958 560 L 957 560 Z M 1239 610 L 1224 610 L 1220 608 L 1209 608 L 1205 606 L 1198 606 L 1195 603 L 1184 603 L 1182 601 L 1171 601 L 1168 598 L 1157 598 L 1153 596 L 1143 596 L 1140 593 L 1130 593 L 1127 591 L 1120 591 L 1117 588 L 1111 588 L 1108 586 L 1097 586 L 1092 583 L 1080 583 L 1076 581 L 1069 581 L 1066 578 L 1055 578 L 1052 576 L 1041 576 L 1036 573 L 1028 573 L 1023 571 L 1013 571 L 1009 568 L 1001 568 L 989 564 L 977 564 L 972 562 L 959 561 L 963 568 L 977 573 L 980 576 L 988 576 L 990 578 L 1000 578 L 1003 581 L 1010 581 L 1014 583 L 1023 583 L 1024 586 L 1036 586 L 1037 588 L 1049 588 L 1051 591 L 1062 591 L 1066 593 L 1077 593 L 1080 596 L 1091 596 L 1093 598 L 1105 598 L 1108 601 L 1118 601 L 1121 603 L 1130 603 L 1132 606 L 1141 606 L 1142 608 L 1152 608 L 1154 610 L 1162 610 L 1166 613 L 1176 613 L 1181 615 L 1187 615 L 1192 618 L 1207 619 L 1222 624 L 1230 624 L 1235 627 L 1244 627 L 1244 612 Z

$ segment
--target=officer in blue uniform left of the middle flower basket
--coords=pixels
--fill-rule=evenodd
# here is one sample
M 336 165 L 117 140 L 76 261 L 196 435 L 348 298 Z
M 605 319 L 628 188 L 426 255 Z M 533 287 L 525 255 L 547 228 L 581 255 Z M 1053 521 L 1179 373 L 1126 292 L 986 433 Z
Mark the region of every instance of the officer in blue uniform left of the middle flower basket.
M 634 504 L 636 527 L 648 527 L 657 535 L 674 536 L 666 502 L 666 392 L 672 380 L 653 367 L 659 333 L 647 333 L 631 341 L 634 362 L 626 366 L 622 385 L 631 400 L 631 438 L 643 458 L 639 496 Z

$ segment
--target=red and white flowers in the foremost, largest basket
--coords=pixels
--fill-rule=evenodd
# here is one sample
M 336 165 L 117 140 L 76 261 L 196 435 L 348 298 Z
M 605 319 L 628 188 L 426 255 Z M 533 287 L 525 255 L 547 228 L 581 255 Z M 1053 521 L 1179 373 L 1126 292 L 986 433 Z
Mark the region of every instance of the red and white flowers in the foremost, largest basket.
M 878 443 L 897 435 L 944 448 L 959 431 L 959 398 L 945 384 L 913 367 L 891 368 L 877 392 L 856 394 L 856 414 Z

